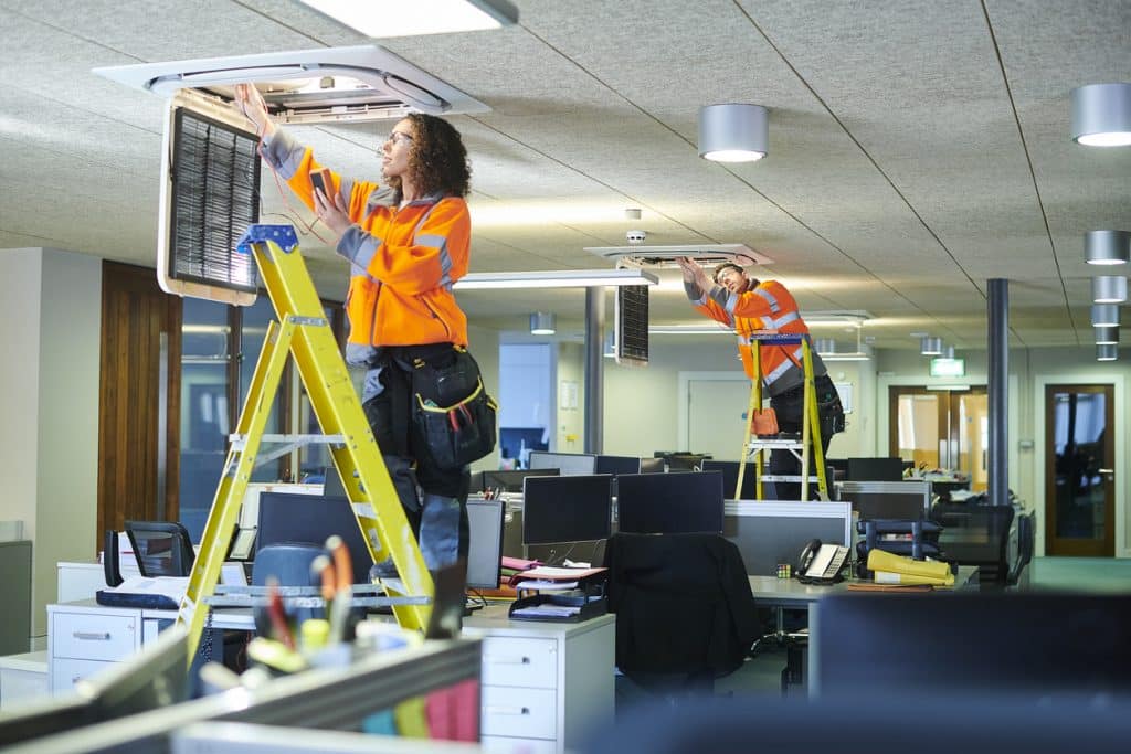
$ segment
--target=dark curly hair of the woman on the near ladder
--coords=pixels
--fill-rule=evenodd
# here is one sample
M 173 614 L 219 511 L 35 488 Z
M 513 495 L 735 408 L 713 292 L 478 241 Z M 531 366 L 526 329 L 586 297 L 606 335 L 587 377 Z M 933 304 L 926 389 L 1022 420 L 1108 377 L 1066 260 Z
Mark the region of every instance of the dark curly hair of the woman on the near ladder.
M 408 173 L 421 196 L 466 197 L 472 166 L 456 127 L 424 113 L 409 113 L 404 120 L 413 124 Z M 388 184 L 400 193 L 400 176 L 390 176 Z

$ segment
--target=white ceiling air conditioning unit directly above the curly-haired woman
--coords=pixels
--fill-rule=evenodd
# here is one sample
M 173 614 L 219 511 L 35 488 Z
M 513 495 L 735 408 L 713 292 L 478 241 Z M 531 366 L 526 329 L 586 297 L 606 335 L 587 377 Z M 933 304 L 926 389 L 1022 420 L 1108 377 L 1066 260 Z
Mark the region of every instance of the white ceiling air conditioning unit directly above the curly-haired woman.
M 378 45 L 112 66 L 95 68 L 93 72 L 164 97 L 189 88 L 224 102 L 234 101 L 236 84 L 251 83 L 276 120 L 284 123 L 371 121 L 404 118 L 409 112 L 456 115 L 491 110 Z

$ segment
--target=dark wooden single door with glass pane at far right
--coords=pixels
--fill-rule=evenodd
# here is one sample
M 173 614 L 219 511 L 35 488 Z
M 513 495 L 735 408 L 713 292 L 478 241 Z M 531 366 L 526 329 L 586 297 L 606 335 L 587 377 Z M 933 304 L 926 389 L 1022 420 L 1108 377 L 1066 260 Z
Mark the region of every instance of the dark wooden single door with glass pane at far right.
M 1114 390 L 1045 388 L 1045 554 L 1115 554 Z

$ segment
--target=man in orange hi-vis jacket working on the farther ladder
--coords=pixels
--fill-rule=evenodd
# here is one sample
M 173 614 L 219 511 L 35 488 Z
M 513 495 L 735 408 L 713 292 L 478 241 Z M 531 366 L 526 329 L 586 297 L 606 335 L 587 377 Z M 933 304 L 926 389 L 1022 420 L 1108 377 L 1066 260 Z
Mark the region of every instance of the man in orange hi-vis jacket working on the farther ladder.
M 809 337 L 809 327 L 797 311 L 797 302 L 780 283 L 752 278 L 734 262 L 717 266 L 713 279 L 708 279 L 703 268 L 688 257 L 680 257 L 676 262 L 683 271 L 683 288 L 696 310 L 737 333 L 739 355 L 751 380 L 754 379 L 754 365 L 750 346 L 757 332 L 775 330 Z M 832 435 L 844 430 L 844 409 L 821 357 L 812 348 L 810 354 L 821 424 L 821 450 L 828 452 Z M 770 399 L 778 428 L 800 435 L 805 388 L 801 344 L 759 344 L 759 361 L 763 395 Z M 789 451 L 776 450 L 770 454 L 770 474 L 798 475 L 801 462 Z M 800 484 L 777 484 L 775 487 L 779 500 L 801 496 Z

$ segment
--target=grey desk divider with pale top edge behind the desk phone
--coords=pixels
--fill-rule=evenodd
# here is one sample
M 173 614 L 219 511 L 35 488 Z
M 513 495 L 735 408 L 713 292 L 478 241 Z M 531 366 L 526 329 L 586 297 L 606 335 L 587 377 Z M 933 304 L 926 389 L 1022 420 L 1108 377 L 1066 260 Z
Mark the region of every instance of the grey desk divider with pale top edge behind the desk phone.
M 852 509 L 846 502 L 728 500 L 723 536 L 742 554 L 750 575 L 775 575 L 779 563 L 796 565 L 810 539 L 852 545 Z

